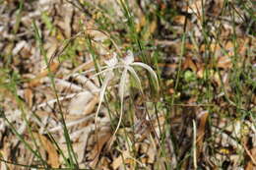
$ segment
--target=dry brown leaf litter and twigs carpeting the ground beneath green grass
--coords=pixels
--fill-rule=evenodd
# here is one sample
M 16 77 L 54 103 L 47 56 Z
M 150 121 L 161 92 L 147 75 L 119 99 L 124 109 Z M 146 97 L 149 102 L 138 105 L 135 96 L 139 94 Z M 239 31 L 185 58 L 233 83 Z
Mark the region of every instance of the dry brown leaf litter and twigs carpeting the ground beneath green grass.
M 157 115 L 152 101 L 147 103 L 147 106 L 139 101 L 148 100 L 144 98 L 148 94 L 147 90 L 144 90 L 147 88 L 147 80 L 141 78 L 146 72 L 141 71 L 140 67 L 158 81 L 154 67 L 141 63 L 142 60 L 136 53 L 126 50 L 125 45 L 123 47 L 120 42 L 115 43 L 116 39 L 110 36 L 118 34 L 118 30 L 120 33 L 125 32 L 121 31 L 125 28 L 119 24 L 120 21 L 126 22 L 121 1 L 92 1 L 89 2 L 89 6 L 84 6 L 84 1 L 24 2 L 23 5 L 20 4 L 23 8 L 20 9 L 22 12 L 19 17 L 19 13 L 13 13 L 19 10 L 18 2 L 1 3 L 0 50 L 3 52 L 0 53 L 0 74 L 3 78 L 10 78 L 11 75 L 13 79 L 0 79 L 0 106 L 3 108 L 1 114 L 4 114 L 23 135 L 26 142 L 32 144 L 34 135 L 37 143 L 41 144 L 38 152 L 50 167 L 65 168 L 65 156 L 68 156 L 60 121 L 61 110 L 57 107 L 58 100 L 63 108 L 80 168 L 164 169 L 166 162 L 171 164 L 172 168 L 180 166 L 182 169 L 192 168 L 193 163 L 206 169 L 244 167 L 249 170 L 256 167 L 256 131 L 255 118 L 252 114 L 255 112 L 256 104 L 253 84 L 255 79 L 252 76 L 251 80 L 240 83 L 243 93 L 240 95 L 242 102 L 238 107 L 233 105 L 236 96 L 231 81 L 235 68 L 255 66 L 255 38 L 251 35 L 251 30 L 244 28 L 245 19 L 249 18 L 246 13 L 246 8 L 251 6 L 249 1 L 243 4 L 244 9 L 236 3 L 230 5 L 235 11 L 233 18 L 230 13 L 228 14 L 228 10 L 221 10 L 224 8 L 222 0 L 191 1 L 189 6 L 180 1 L 156 1 L 153 4 L 150 1 L 132 1 L 129 4 L 134 7 L 131 11 L 134 14 L 135 31 L 145 32 L 141 35 L 143 40 L 154 37 L 156 40 L 153 40 L 152 44 L 156 45 L 155 49 L 162 52 L 162 59 L 158 63 L 163 79 L 163 84 L 160 82 L 160 89 L 163 92 L 169 91 L 168 94 L 181 102 L 167 109 L 168 106 L 164 105 L 164 102 L 169 101 L 165 98 L 160 99 L 156 106 L 159 109 Z M 170 5 L 178 12 L 178 15 L 172 16 L 170 22 L 166 22 L 169 19 L 164 17 L 154 17 L 158 8 L 162 16 L 167 16 L 167 8 Z M 112 7 L 112 12 L 106 13 L 104 6 Z M 203 18 L 203 15 L 206 15 L 207 19 Z M 100 17 L 116 25 L 114 27 L 117 29 L 101 31 L 96 23 Z M 204 20 L 207 20 L 212 39 L 204 39 Z M 51 61 L 50 72 L 46 69 L 43 56 L 36 44 L 31 27 L 32 21 L 35 21 L 42 34 L 47 60 Z M 235 29 L 231 27 L 232 21 L 236 25 Z M 181 58 L 182 64 L 179 68 L 178 55 L 182 46 L 179 37 L 185 24 L 191 36 L 185 42 L 186 52 Z M 253 24 L 255 25 L 255 22 L 251 25 Z M 234 31 L 237 37 L 228 38 Z M 85 44 L 89 44 L 83 36 L 91 38 L 90 43 L 95 49 L 95 54 L 85 47 Z M 130 37 L 125 35 L 123 38 L 123 44 L 131 43 Z M 67 46 L 63 45 L 65 39 L 70 39 Z M 208 43 L 203 43 L 207 40 Z M 114 47 L 109 45 L 108 41 L 111 41 Z M 150 56 L 154 55 L 154 49 L 148 49 Z M 94 55 L 102 56 L 96 59 L 97 66 Z M 7 71 L 4 70 L 6 66 L 10 66 Z M 253 70 L 247 68 L 244 69 L 244 75 L 240 75 L 239 81 L 244 81 L 246 75 L 253 75 Z M 182 85 L 176 88 L 173 82 L 179 69 L 185 74 L 181 79 Z M 49 74 L 54 74 L 58 100 L 51 88 Z M 111 75 L 112 77 L 109 77 Z M 97 79 L 97 76 L 101 78 Z M 209 84 L 215 88 L 215 95 L 211 100 L 210 93 L 208 100 L 202 97 L 202 94 L 209 92 L 205 85 L 207 83 L 195 82 L 203 82 L 207 77 L 210 77 Z M 102 78 L 106 81 L 100 82 Z M 138 93 L 143 94 L 134 99 L 134 102 L 140 105 L 135 109 L 130 108 L 128 104 L 134 93 L 127 80 L 135 80 L 138 85 L 135 86 L 139 88 Z M 202 92 L 194 90 L 196 88 Z M 243 98 L 243 95 L 251 96 L 251 99 Z M 121 105 L 116 106 L 118 103 L 115 102 L 109 104 L 109 100 L 121 100 Z M 207 104 L 213 104 L 213 108 L 207 107 Z M 136 112 L 135 117 L 129 118 L 128 113 L 132 111 Z M 239 115 L 245 111 L 248 111 L 246 114 L 250 114 L 246 117 Z M 133 119 L 132 124 L 129 123 L 129 119 Z M 196 131 L 193 130 L 192 120 L 197 123 L 194 126 Z M 28 126 L 32 129 L 32 135 Z M 165 139 L 162 132 L 165 133 Z M 192 148 L 195 132 L 197 162 L 195 157 L 194 160 L 192 157 L 188 158 L 188 155 L 192 154 L 188 150 Z M 11 133 L 10 125 L 3 118 L 0 119 L 0 138 L 1 160 L 40 165 L 32 151 Z M 33 144 L 32 146 L 36 149 Z M 165 152 L 161 147 L 164 147 Z M 60 151 L 64 155 L 61 155 Z M 7 162 L 1 161 L 1 169 L 23 169 Z M 178 165 L 180 162 L 182 163 Z

